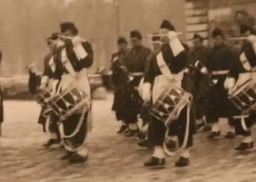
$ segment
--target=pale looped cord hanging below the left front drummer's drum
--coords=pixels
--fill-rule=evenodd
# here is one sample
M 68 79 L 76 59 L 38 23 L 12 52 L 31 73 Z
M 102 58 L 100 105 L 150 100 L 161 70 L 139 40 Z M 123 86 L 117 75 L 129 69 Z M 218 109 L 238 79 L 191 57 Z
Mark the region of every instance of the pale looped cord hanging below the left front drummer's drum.
M 91 107 L 90 107 L 90 109 L 91 109 Z M 82 144 L 81 145 L 79 145 L 78 147 L 76 147 L 76 148 L 71 148 L 71 147 L 69 147 L 68 146 L 68 144 L 65 142 L 65 139 L 70 139 L 70 138 L 72 138 L 72 137 L 74 137 L 79 131 L 80 131 L 80 128 L 81 128 L 81 126 L 82 126 L 82 122 L 83 122 L 83 120 L 84 120 L 84 116 L 86 115 L 86 107 L 84 107 L 84 109 L 83 109 L 83 112 L 82 112 L 82 115 L 81 115 L 81 117 L 80 117 L 80 119 L 79 119 L 79 121 L 78 121 L 78 124 L 77 124 L 77 126 L 76 126 L 76 128 L 75 128 L 75 130 L 74 130 L 74 132 L 71 134 L 71 135 L 65 135 L 65 133 L 64 133 L 64 126 L 63 126 L 63 123 L 62 122 L 59 122 L 59 133 L 60 133 L 60 136 L 61 136 L 61 139 L 63 140 L 63 145 L 64 145 L 64 147 L 65 147 L 65 149 L 66 150 L 68 150 L 68 151 L 71 151 L 71 152 L 74 152 L 74 151 L 77 151 L 81 146 L 83 146 L 83 144 L 85 143 L 85 137 L 84 137 L 84 140 L 83 140 L 83 142 L 82 142 Z M 89 116 L 90 115 L 90 110 L 88 111 L 88 118 L 87 119 L 90 119 Z M 87 121 L 88 122 L 88 121 Z

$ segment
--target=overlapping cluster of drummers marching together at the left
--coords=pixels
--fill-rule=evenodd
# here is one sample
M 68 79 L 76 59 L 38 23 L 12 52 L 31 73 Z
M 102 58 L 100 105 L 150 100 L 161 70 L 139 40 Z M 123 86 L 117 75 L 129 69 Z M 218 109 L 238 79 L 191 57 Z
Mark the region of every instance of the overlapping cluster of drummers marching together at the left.
M 70 163 L 87 161 L 87 150 L 81 152 L 80 148 L 91 130 L 87 68 L 93 64 L 93 49 L 78 33 L 73 22 L 61 23 L 60 33 L 47 38 L 50 51 L 42 75 L 35 66 L 29 67 L 29 90 L 41 105 L 38 123 L 51 133 L 44 146 L 62 146 L 66 153 L 61 159 Z

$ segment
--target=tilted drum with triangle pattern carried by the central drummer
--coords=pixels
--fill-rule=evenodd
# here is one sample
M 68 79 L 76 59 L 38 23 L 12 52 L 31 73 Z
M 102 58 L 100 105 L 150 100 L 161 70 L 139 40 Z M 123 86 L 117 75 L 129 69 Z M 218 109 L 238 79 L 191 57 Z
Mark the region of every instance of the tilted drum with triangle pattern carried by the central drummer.
M 182 109 L 191 101 L 193 96 L 182 88 L 166 88 L 160 94 L 150 109 L 150 114 L 162 121 L 166 127 L 178 119 Z

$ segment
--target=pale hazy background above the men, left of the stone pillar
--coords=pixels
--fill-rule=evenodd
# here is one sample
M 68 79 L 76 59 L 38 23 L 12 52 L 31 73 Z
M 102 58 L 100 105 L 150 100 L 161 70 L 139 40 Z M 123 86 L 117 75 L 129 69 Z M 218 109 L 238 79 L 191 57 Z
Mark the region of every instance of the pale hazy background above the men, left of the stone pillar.
M 140 30 L 150 46 L 145 35 L 155 32 L 162 19 L 185 30 L 184 7 L 185 0 L 0 1 L 2 75 L 26 73 L 24 67 L 31 62 L 42 68 L 45 39 L 59 30 L 61 21 L 74 21 L 80 36 L 92 43 L 95 63 L 90 72 L 109 67 L 118 35 L 129 38 L 131 30 Z

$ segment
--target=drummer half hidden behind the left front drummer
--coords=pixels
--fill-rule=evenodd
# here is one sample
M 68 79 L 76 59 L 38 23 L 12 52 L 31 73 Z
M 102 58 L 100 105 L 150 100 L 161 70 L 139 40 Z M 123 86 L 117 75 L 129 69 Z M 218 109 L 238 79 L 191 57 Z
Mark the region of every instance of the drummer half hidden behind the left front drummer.
M 58 59 L 60 50 L 63 49 L 63 42 L 59 39 L 57 33 L 53 33 L 47 38 L 47 45 L 50 48 L 50 53 L 44 60 L 44 73 L 42 74 L 38 90 L 49 89 L 51 91 L 51 95 L 55 95 L 57 93 L 61 77 L 61 65 Z M 42 108 L 38 122 L 45 126 L 46 120 L 49 119 L 49 131 L 51 133 L 51 137 L 43 146 L 50 147 L 53 144 L 60 143 L 60 134 L 57 124 L 58 116 L 54 113 L 47 116 L 43 115 L 47 109 L 49 108 Z

